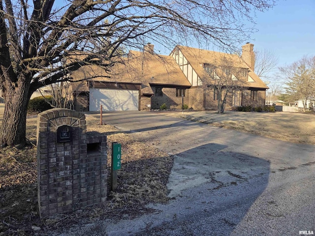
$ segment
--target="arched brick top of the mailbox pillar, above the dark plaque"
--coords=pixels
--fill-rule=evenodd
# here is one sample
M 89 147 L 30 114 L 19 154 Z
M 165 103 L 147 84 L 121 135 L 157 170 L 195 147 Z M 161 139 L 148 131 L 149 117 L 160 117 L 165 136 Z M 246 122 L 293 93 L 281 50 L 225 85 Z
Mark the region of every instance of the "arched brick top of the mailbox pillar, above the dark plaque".
M 37 133 L 56 132 L 62 125 L 79 127 L 82 133 L 86 133 L 85 115 L 63 108 L 53 108 L 38 114 Z

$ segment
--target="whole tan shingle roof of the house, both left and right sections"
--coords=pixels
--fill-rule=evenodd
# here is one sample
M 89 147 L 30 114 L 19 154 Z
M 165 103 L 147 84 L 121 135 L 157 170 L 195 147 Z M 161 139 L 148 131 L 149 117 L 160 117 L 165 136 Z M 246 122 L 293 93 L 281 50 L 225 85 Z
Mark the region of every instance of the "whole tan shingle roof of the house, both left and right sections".
M 228 66 L 247 68 L 249 70 L 249 76 L 254 82 L 247 82 L 248 87 L 268 89 L 265 83 L 237 55 L 184 46 L 177 47 L 182 51 L 201 79 L 205 73 L 204 63 L 220 66 L 221 61 L 224 61 L 224 66 L 226 66 L 227 61 L 230 61 Z M 104 68 L 97 65 L 85 65 L 72 72 L 71 77 L 73 81 L 94 80 L 141 84 L 142 94 L 153 94 L 150 85 L 191 86 L 172 56 L 152 55 L 137 51 L 130 51 L 128 58 L 124 58 L 122 63 L 116 63 L 111 68 L 111 71 L 105 71 Z M 71 86 L 73 91 L 89 91 L 86 82 L 71 83 Z

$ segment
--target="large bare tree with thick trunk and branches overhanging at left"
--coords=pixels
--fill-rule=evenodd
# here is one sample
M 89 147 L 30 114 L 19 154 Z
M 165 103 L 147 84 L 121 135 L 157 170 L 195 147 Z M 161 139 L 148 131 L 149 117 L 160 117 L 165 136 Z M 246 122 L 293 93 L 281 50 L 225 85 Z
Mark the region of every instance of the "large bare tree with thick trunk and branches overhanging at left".
M 71 71 L 92 63 L 110 70 L 121 56 L 118 49 L 142 48 L 150 40 L 169 47 L 198 40 L 202 45 L 233 49 L 253 30 L 243 24 L 244 19 L 254 23 L 252 11 L 266 10 L 273 3 L 1 0 L 0 88 L 5 112 L 0 143 L 25 144 L 26 108 L 32 93 L 71 80 L 67 77 Z

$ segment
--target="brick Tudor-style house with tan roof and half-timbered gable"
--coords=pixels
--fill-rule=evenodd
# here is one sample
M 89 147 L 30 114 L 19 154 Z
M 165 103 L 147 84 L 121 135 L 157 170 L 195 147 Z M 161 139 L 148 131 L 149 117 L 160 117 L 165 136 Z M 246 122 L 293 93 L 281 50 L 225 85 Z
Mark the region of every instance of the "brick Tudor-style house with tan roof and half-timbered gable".
M 130 51 L 121 63 L 110 70 L 86 65 L 74 71 L 70 84 L 71 99 L 76 110 L 137 111 L 168 108 L 181 109 L 182 102 L 194 110 L 216 109 L 216 89 L 207 80 L 206 71 L 219 68 L 220 79 L 231 68 L 238 68 L 242 76 L 233 74 L 231 81 L 243 81 L 228 97 L 226 107 L 263 106 L 268 87 L 253 72 L 253 44 L 242 47 L 242 56 L 176 46 L 169 56 L 154 53 L 154 45 L 147 44 L 143 52 Z M 224 64 L 223 64 L 224 63 Z M 228 65 L 227 65 L 228 63 Z

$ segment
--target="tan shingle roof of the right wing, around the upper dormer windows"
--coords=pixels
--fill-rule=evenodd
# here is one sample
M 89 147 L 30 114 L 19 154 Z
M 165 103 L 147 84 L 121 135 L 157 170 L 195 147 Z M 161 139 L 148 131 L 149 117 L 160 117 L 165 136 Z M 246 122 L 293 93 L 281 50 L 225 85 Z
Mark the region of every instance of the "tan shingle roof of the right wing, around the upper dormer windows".
M 205 73 L 203 64 L 212 64 L 216 66 L 233 66 L 239 68 L 247 68 L 249 76 L 254 82 L 247 82 L 247 87 L 268 89 L 265 83 L 252 71 L 252 69 L 236 54 L 227 54 L 185 46 L 177 46 L 185 58 L 188 60 L 192 68 L 198 76 L 203 78 Z

